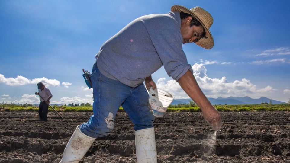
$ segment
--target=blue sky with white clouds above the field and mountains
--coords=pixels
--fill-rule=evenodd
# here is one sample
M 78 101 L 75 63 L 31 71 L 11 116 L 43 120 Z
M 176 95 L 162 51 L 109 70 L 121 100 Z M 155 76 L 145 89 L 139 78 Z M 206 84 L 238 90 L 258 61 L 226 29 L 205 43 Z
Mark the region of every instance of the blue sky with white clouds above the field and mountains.
M 289 1 L 0 1 L 0 100 L 38 103 L 36 83 L 51 103 L 92 103 L 82 68 L 91 72 L 101 45 L 130 21 L 200 6 L 214 18 L 211 50 L 183 45 L 207 97 L 290 98 Z M 121 64 L 121 63 L 120 63 Z M 187 98 L 162 67 L 158 88 Z

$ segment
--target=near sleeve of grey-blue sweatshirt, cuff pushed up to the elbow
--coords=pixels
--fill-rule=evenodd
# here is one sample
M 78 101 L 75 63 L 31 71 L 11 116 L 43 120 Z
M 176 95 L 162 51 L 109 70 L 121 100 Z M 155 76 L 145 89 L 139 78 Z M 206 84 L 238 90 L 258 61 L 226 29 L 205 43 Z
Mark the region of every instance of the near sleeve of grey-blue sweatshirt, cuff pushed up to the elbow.
M 178 81 L 178 79 L 188 70 L 193 72 L 182 50 L 182 36 L 178 31 L 159 31 L 150 37 L 165 71 L 169 76 Z

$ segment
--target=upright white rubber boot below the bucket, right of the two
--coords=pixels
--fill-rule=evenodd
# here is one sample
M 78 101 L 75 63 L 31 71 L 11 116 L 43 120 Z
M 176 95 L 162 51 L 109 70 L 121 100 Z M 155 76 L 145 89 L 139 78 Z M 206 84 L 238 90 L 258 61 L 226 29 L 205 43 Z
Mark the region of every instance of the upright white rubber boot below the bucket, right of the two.
M 157 163 L 154 128 L 135 131 L 135 144 L 138 163 Z

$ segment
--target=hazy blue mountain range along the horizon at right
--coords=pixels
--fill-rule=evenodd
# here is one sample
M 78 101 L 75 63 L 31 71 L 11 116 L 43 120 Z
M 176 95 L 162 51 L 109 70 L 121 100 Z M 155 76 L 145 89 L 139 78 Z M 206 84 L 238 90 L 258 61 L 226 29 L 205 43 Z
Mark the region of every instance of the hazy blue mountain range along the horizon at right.
M 177 104 L 188 104 L 190 98 L 188 99 L 173 99 L 171 105 L 177 105 Z M 268 104 L 270 103 L 269 98 L 267 97 L 260 97 L 257 99 L 253 99 L 251 97 L 218 97 L 218 98 L 208 98 L 208 100 L 211 102 L 212 105 L 236 105 L 236 104 L 261 104 L 267 102 Z M 285 102 L 282 101 L 277 101 L 277 100 L 272 100 L 272 104 L 285 104 Z

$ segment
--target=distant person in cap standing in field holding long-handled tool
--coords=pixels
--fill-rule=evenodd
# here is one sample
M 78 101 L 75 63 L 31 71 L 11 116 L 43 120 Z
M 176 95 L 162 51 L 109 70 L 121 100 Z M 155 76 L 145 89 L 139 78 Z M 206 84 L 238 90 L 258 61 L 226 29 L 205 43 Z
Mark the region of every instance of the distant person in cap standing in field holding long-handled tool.
M 52 97 L 52 94 L 48 88 L 44 86 L 42 82 L 37 83 L 37 88 L 38 92 L 35 92 L 35 95 L 40 95 L 40 104 L 39 104 L 39 110 L 38 110 L 38 115 L 39 115 L 39 120 L 47 120 L 47 113 L 48 113 L 48 106 L 50 103 L 50 99 Z

